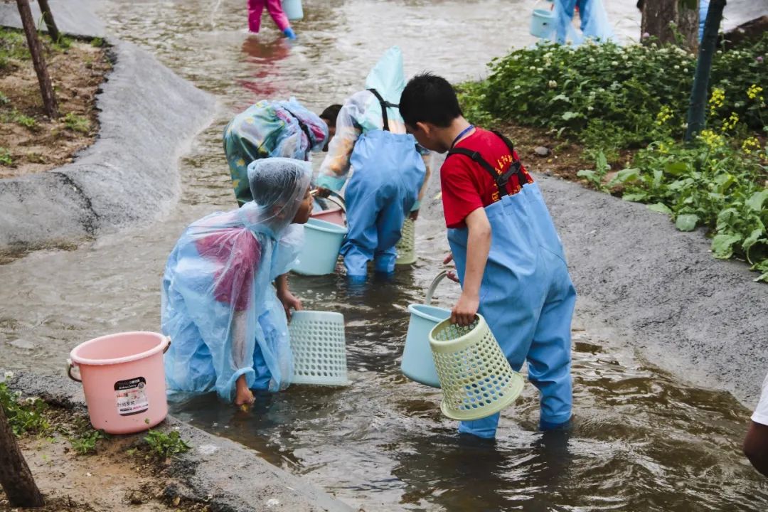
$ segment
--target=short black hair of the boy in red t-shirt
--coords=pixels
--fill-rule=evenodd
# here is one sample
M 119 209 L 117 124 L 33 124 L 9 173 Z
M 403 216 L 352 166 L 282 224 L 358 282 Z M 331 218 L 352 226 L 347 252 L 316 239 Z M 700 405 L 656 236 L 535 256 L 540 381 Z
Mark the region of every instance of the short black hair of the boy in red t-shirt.
M 462 115 L 462 108 L 449 81 L 436 74 L 422 73 L 411 78 L 402 91 L 400 115 L 411 127 L 421 122 L 445 128 Z

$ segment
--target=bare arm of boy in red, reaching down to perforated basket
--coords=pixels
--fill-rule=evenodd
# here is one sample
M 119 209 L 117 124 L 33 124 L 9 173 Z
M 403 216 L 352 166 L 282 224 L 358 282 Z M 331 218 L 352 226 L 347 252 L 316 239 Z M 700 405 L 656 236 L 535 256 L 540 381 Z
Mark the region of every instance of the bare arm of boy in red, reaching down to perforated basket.
M 470 325 L 480 306 L 480 284 L 488 253 L 491 250 L 491 223 L 485 215 L 485 208 L 478 208 L 465 219 L 469 235 L 467 238 L 467 268 L 464 273 L 462 296 L 451 311 L 451 322 Z

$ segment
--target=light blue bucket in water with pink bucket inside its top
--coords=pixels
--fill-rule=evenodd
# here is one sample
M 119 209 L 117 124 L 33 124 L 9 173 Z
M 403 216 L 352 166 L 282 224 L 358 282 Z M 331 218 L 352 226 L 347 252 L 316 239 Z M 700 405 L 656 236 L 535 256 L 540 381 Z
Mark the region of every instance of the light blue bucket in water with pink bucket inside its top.
M 304 224 L 304 246 L 293 272 L 304 276 L 325 276 L 336 272 L 336 260 L 346 236 L 346 227 L 310 219 Z

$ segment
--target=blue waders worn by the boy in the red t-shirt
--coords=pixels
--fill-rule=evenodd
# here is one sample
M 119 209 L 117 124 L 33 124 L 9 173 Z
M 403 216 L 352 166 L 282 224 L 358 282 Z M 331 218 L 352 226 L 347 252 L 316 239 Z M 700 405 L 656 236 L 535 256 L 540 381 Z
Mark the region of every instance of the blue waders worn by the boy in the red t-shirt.
M 486 206 L 485 213 L 492 241 L 478 312 L 512 369 L 519 371 L 528 360 L 528 380 L 541 392 L 541 429 L 554 428 L 571 418 L 571 316 L 576 302 L 560 237 L 536 183 L 503 196 Z M 467 228 L 448 231 L 462 286 L 467 237 Z M 497 413 L 462 421 L 458 431 L 494 438 L 498 418 Z

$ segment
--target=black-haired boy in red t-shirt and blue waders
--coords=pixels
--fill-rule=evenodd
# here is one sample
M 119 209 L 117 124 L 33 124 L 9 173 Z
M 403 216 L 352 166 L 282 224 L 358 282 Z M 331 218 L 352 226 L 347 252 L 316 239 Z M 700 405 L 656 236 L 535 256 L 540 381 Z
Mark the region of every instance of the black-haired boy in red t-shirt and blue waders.
M 440 169 L 452 250 L 445 263 L 455 260 L 462 283 L 452 322 L 469 325 L 482 314 L 511 367 L 528 361 L 528 380 L 541 391 L 541 429 L 566 426 L 576 292 L 538 186 L 509 140 L 465 120 L 444 78 L 412 78 L 399 109 L 419 144 L 448 152 Z M 494 438 L 498 418 L 462 421 L 458 430 Z

